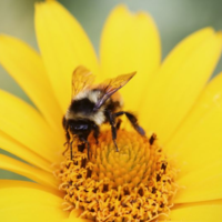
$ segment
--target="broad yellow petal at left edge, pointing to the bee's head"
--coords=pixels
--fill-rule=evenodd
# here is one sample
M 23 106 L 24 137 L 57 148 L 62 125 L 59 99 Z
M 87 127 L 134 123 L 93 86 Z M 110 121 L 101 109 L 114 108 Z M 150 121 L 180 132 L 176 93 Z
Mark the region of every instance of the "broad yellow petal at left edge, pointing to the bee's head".
M 58 160 L 63 140 L 40 113 L 22 100 L 0 90 L 0 131 L 50 162 Z

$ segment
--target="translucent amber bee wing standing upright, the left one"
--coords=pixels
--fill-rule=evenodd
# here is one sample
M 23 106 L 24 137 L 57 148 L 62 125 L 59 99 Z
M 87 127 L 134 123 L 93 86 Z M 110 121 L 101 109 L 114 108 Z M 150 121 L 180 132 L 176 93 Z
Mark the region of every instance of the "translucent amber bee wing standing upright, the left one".
M 72 98 L 87 89 L 94 81 L 94 75 L 87 68 L 80 65 L 72 73 Z

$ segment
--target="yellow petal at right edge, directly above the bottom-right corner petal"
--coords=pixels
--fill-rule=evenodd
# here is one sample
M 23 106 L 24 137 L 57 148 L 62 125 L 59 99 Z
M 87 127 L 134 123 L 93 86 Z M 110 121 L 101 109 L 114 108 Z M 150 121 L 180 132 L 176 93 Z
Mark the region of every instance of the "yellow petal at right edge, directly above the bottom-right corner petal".
M 174 203 L 200 202 L 222 199 L 222 163 L 205 164 L 184 174 L 176 182 L 182 189 L 175 195 Z

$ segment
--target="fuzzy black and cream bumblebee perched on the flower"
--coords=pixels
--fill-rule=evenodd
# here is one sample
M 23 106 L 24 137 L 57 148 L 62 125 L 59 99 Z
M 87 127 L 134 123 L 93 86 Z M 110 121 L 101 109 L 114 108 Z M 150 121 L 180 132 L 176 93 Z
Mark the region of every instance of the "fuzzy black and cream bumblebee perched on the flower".
M 120 128 L 120 115 L 125 114 L 132 127 L 142 137 L 144 130 L 139 125 L 138 119 L 130 112 L 122 111 L 123 102 L 119 90 L 125 85 L 135 72 L 122 74 L 114 79 L 109 79 L 101 84 L 94 84 L 94 75 L 84 67 L 78 67 L 72 74 L 72 99 L 67 113 L 63 117 L 63 128 L 65 131 L 70 159 L 72 160 L 72 143 L 77 139 L 80 142 L 79 151 L 83 152 L 85 144 L 88 148 L 88 159 L 90 152 L 89 134 L 92 132 L 98 143 L 100 125 L 109 123 L 112 132 L 112 140 L 117 151 L 117 130 Z M 118 121 L 117 121 L 118 120 Z M 67 152 L 67 150 L 64 152 Z

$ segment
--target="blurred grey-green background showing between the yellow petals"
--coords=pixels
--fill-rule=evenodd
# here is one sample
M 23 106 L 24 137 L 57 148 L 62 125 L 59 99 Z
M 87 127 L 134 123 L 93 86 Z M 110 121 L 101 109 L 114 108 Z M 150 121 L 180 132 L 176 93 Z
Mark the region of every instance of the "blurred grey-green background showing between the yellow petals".
M 0 32 L 22 39 L 38 50 L 33 13 L 37 0 L 0 0 Z M 222 30 L 221 0 L 60 0 L 79 20 L 90 37 L 97 52 L 100 34 L 109 12 L 119 3 L 132 11 L 144 10 L 154 18 L 162 42 L 162 59 L 184 37 L 193 31 L 213 27 Z M 222 71 L 222 60 L 214 75 Z M 30 102 L 23 91 L 0 67 L 0 88 Z M 1 171 L 2 178 L 14 178 Z

